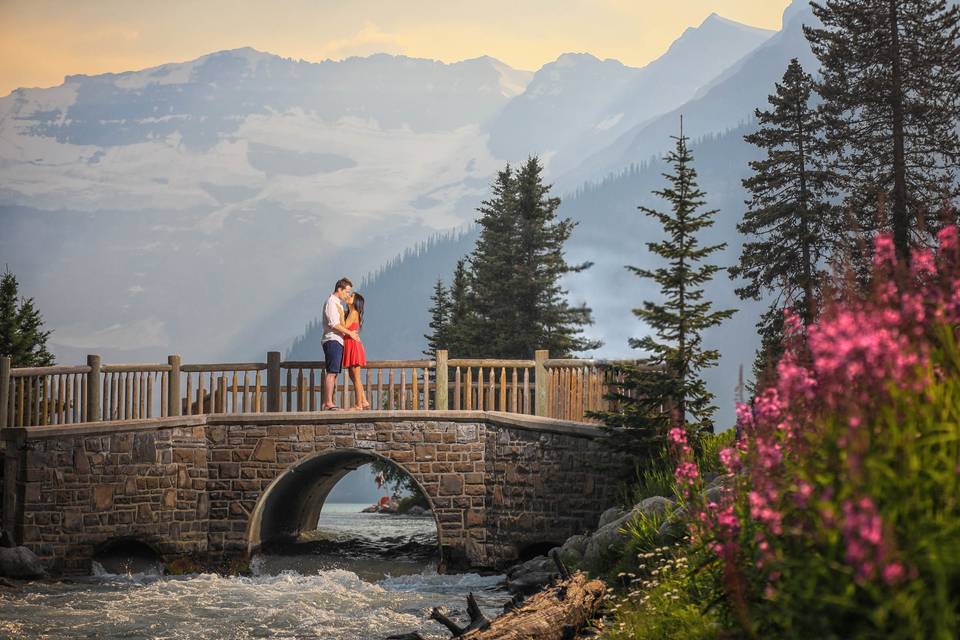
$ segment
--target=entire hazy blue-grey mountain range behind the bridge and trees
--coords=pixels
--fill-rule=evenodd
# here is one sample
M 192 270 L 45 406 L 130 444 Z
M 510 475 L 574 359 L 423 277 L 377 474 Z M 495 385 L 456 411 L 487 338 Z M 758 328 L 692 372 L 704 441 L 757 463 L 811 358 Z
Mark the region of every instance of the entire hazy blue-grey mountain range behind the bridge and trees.
M 372 357 L 414 357 L 493 172 L 537 154 L 578 222 L 569 259 L 595 263 L 565 285 L 594 309 L 596 355 L 636 355 L 630 309 L 656 292 L 623 267 L 649 259 L 659 230 L 636 206 L 657 204 L 679 116 L 732 264 L 754 153 L 743 135 L 791 57 L 815 71 L 812 20 L 802 0 L 775 33 L 712 15 L 643 68 L 586 53 L 530 73 L 490 57 L 240 49 L 19 89 L 0 98 L 0 253 L 64 362 L 315 357 L 313 320 L 342 274 L 367 295 Z M 740 309 L 707 336 L 723 353 L 709 376 L 721 420 L 756 346 L 744 327 L 757 305 L 733 286 L 710 289 Z

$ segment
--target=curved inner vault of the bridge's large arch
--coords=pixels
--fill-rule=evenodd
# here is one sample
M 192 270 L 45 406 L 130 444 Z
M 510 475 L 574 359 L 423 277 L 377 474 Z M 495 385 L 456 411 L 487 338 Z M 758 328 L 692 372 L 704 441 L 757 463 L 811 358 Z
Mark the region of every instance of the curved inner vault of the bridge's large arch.
M 274 478 L 250 514 L 247 553 L 252 554 L 271 542 L 291 542 L 301 533 L 316 529 L 323 504 L 333 487 L 349 472 L 377 460 L 401 469 L 426 497 L 436 525 L 442 560 L 444 540 L 434 496 L 417 477 L 419 474 L 389 456 L 369 449 L 347 447 L 308 455 Z

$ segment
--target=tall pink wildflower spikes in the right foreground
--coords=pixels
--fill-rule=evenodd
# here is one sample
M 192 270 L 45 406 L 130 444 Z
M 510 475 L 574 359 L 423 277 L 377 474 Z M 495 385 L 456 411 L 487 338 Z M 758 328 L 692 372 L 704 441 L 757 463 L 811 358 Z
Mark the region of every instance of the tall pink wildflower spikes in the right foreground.
M 858 485 L 857 478 L 883 399 L 894 389 L 922 391 L 930 382 L 927 337 L 935 323 L 960 323 L 957 228 L 945 228 L 938 238 L 939 250 L 915 252 L 904 275 L 892 239 L 878 236 L 871 298 L 828 304 L 808 327 L 786 316 L 777 382 L 751 405 L 737 406 L 740 439 L 720 451 L 733 488 L 719 502 L 701 503 L 699 511 L 693 506 L 691 533 L 707 541 L 728 570 L 738 552 L 752 555 L 773 583 L 781 536 L 833 531 L 824 539 L 842 539 L 844 560 L 858 582 L 894 585 L 911 575 L 896 560 L 896 541 L 884 529 L 869 486 Z M 839 426 L 829 431 L 829 424 Z M 837 471 L 845 483 L 839 487 L 818 485 L 815 475 L 802 472 L 805 460 L 823 455 L 828 437 L 846 464 Z M 699 474 L 686 433 L 675 428 L 669 439 L 681 454 L 677 481 L 691 485 Z

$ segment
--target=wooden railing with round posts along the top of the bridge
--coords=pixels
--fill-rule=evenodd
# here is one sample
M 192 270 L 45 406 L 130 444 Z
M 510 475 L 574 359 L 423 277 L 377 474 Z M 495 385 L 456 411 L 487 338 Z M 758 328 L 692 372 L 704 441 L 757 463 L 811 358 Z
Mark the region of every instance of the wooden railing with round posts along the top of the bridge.
M 484 410 L 590 421 L 609 409 L 604 395 L 614 382 L 609 363 L 448 358 L 374 360 L 361 369 L 372 410 Z M 129 420 L 205 413 L 317 411 L 324 363 L 281 361 L 183 364 L 102 364 L 87 356 L 81 366 L 10 367 L 0 358 L 0 428 Z M 354 404 L 353 382 L 341 373 L 334 387 L 341 407 Z

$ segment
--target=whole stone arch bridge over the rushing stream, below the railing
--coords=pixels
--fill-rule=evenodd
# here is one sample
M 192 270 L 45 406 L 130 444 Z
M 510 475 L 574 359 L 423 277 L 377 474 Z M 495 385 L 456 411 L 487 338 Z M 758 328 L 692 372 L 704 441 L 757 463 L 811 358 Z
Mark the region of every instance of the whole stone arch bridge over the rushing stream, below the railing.
M 382 457 L 424 490 L 442 566 L 498 568 L 593 528 L 616 502 L 594 426 L 487 411 L 198 415 L 8 428 L 3 523 L 55 572 L 133 539 L 220 560 L 313 529 Z

